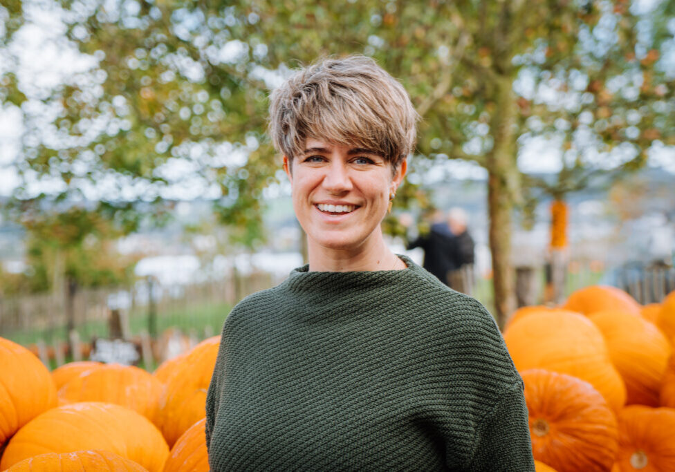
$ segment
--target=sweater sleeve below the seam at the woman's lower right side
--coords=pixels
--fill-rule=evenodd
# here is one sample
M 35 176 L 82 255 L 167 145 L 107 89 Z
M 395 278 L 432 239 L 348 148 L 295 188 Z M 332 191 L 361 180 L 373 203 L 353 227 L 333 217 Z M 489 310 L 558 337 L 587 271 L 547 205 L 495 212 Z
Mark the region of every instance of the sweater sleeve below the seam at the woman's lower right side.
M 469 471 L 534 472 L 528 410 L 521 382 L 504 393 L 476 431 Z

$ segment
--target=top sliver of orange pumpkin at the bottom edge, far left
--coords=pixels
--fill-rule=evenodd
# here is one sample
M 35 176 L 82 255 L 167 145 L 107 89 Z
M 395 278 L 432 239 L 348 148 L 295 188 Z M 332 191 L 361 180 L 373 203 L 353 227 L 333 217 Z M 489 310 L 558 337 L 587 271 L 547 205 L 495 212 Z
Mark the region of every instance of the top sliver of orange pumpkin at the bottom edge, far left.
M 46 453 L 17 462 L 6 472 L 147 472 L 145 467 L 109 451 Z

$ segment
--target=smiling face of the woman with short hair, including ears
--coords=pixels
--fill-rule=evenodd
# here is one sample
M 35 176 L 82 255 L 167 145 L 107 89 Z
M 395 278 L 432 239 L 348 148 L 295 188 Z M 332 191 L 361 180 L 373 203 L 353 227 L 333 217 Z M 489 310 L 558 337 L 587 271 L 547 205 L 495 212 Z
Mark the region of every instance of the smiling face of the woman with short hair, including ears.
M 304 153 L 284 156 L 293 188 L 293 209 L 310 244 L 329 249 L 358 249 L 381 237 L 389 193 L 403 180 L 406 162 L 391 164 L 366 149 L 308 139 Z

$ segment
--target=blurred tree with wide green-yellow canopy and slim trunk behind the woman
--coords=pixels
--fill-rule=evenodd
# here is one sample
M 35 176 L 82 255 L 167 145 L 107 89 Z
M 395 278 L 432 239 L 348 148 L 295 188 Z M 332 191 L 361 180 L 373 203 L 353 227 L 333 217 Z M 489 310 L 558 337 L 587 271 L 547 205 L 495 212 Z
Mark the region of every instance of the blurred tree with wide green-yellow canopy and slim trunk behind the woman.
M 198 176 L 223 223 L 246 228 L 241 242 L 255 245 L 263 189 L 282 178 L 264 133 L 268 91 L 298 63 L 371 55 L 412 95 L 423 118 L 418 152 L 488 172 L 500 325 L 515 308 L 519 149 L 557 141 L 562 169 L 582 172 L 639 167 L 651 144 L 675 144 L 672 66 L 662 59 L 672 0 L 644 12 L 627 0 L 60 5 L 68 38 L 97 65 L 42 99 L 57 110 L 46 125 L 24 118 L 26 172 L 60 178 L 69 195 L 114 176 L 146 199 Z M 0 93 L 15 88 L 9 80 Z M 410 201 L 418 190 L 401 191 Z

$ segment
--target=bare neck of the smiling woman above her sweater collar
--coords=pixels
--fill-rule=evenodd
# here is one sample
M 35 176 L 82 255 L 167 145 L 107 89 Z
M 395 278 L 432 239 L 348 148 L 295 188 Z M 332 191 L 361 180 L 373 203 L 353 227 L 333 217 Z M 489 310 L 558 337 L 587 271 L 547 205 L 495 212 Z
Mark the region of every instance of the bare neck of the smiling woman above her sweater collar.
M 385 243 L 382 234 L 373 234 L 360 247 L 335 249 L 308 240 L 310 272 L 362 272 L 400 270 L 407 266 Z

